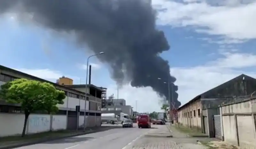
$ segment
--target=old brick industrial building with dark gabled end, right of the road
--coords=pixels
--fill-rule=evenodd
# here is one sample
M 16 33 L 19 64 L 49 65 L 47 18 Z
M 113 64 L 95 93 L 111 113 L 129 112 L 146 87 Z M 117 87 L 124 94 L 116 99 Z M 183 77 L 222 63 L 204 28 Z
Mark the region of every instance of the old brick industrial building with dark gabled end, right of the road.
M 216 123 L 220 121 L 219 106 L 235 97 L 250 95 L 255 90 L 256 79 L 242 74 L 196 96 L 178 108 L 178 122 L 214 137 L 216 135 L 214 127 L 219 128 L 219 126 L 214 126 L 213 119 Z

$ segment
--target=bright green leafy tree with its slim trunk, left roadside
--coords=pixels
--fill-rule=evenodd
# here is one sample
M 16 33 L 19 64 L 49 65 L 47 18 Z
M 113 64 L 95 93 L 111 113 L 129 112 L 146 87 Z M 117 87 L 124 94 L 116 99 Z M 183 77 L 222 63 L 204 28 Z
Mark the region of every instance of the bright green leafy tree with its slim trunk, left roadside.
M 52 84 L 25 78 L 7 82 L 1 88 L 1 99 L 8 103 L 20 104 L 25 114 L 21 137 L 25 136 L 28 116 L 31 113 L 35 111 L 55 113 L 59 110 L 57 104 L 63 104 L 63 99 L 65 99 L 65 93 L 57 90 Z

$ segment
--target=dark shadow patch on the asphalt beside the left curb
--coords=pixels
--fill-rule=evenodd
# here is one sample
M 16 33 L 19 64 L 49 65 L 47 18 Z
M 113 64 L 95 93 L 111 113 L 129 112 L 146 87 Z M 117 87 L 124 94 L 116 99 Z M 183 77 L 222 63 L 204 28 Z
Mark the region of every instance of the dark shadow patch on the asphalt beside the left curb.
M 62 143 L 75 143 L 75 142 L 83 142 L 93 139 L 92 137 L 70 137 L 70 138 L 64 138 L 64 139 L 59 139 L 59 140 L 53 140 L 49 142 L 44 142 L 42 144 L 62 144 Z

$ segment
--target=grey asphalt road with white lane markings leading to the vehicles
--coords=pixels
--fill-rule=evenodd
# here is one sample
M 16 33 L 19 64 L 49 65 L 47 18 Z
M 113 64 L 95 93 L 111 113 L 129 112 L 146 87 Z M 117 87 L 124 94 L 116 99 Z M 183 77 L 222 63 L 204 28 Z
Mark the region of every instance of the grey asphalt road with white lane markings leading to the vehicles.
M 122 128 L 101 131 L 82 136 L 23 146 L 15 149 L 122 149 L 152 129 L 139 129 L 137 124 L 133 128 Z

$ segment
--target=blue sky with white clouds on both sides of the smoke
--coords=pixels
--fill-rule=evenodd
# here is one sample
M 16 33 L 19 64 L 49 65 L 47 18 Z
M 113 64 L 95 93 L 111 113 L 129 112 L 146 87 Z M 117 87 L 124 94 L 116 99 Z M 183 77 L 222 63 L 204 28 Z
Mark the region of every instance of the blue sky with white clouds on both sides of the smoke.
M 186 1 L 190 2 L 152 0 L 156 10 L 166 10 L 158 12 L 157 28 L 164 31 L 171 45 L 161 56 L 170 62 L 171 73 L 177 78 L 179 101 L 185 104 L 241 73 L 256 77 L 256 1 L 243 5 L 235 0 L 218 0 L 219 6 Z M 0 20 L 1 65 L 51 81 L 65 75 L 76 84 L 85 83 L 84 64 L 92 54 L 86 47 L 77 46 L 67 34 L 54 34 L 10 17 Z M 90 63 L 92 84 L 108 87 L 108 94 L 116 96 L 108 65 L 95 57 Z M 136 89 L 129 85 L 120 89 L 119 97 L 134 107 L 138 101 L 137 110 L 145 112 L 159 111 L 163 100 L 149 87 Z

